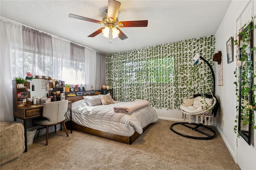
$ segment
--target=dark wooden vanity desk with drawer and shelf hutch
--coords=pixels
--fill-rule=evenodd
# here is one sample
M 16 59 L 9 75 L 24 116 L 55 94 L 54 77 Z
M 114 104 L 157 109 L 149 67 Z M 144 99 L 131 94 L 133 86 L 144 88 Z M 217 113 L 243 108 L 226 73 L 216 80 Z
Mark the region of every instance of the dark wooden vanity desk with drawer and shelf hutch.
M 44 76 L 43 76 L 44 77 Z M 18 88 L 16 85 L 16 81 L 12 81 L 12 88 L 13 88 L 13 116 L 14 121 L 17 119 L 23 120 L 24 125 L 24 137 L 25 137 L 25 150 L 24 152 L 28 151 L 27 148 L 27 121 L 29 119 L 33 119 L 36 117 L 42 117 L 43 114 L 43 104 L 33 105 L 33 103 L 28 100 L 30 99 L 31 91 L 28 89 L 30 88 L 30 82 L 24 83 L 24 88 Z M 51 86 L 50 86 L 51 87 Z M 44 91 L 46 91 L 44 89 Z M 23 96 L 19 96 L 18 93 L 22 92 Z M 46 92 L 45 92 L 46 93 Z M 20 101 L 22 101 L 23 105 L 20 105 Z M 26 101 L 26 102 L 23 102 Z M 26 103 L 26 104 L 24 104 Z M 72 102 L 68 102 L 68 111 L 70 111 L 70 118 L 72 119 Z M 70 132 L 72 133 L 72 125 L 70 125 Z

